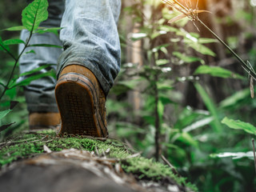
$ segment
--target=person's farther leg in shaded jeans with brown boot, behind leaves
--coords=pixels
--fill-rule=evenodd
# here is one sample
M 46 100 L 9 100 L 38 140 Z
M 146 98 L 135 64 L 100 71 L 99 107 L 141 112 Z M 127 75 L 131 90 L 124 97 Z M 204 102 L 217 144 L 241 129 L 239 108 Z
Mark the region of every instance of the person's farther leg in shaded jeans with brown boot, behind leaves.
M 49 2 L 49 18 L 42 22 L 44 27 L 59 27 L 64 11 L 63 0 L 50 0 Z M 21 38 L 26 41 L 29 31 L 22 30 Z M 62 46 L 59 37 L 53 33 L 33 34 L 30 44 L 54 44 Z M 23 49 L 23 45 L 19 46 L 19 51 Z M 20 73 L 34 70 L 39 66 L 53 64 L 38 73 L 46 73 L 49 70 L 56 70 L 58 57 L 62 54 L 62 49 L 54 47 L 30 47 L 25 52 L 34 50 L 35 54 L 23 54 L 20 59 Z M 22 77 L 20 81 L 27 77 Z M 40 128 L 43 126 L 54 126 L 59 122 L 58 106 L 54 98 L 54 88 L 56 80 L 52 77 L 45 77 L 30 82 L 29 86 L 25 86 L 25 96 L 27 108 L 30 113 L 30 128 Z

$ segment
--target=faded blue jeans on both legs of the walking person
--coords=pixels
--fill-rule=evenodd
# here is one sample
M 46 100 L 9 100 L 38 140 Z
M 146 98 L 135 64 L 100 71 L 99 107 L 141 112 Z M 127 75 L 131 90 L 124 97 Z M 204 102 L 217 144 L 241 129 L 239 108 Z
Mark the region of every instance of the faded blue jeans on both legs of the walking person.
M 49 18 L 41 26 L 62 27 L 56 34 L 34 34 L 30 44 L 54 44 L 54 47 L 30 47 L 36 54 L 24 54 L 20 59 L 20 72 L 24 73 L 43 66 L 53 66 L 40 71 L 56 70 L 57 77 L 65 66 L 78 64 L 86 66 L 98 78 L 107 95 L 120 70 L 120 42 L 118 17 L 121 0 L 48 0 Z M 26 40 L 29 32 L 22 31 Z M 21 51 L 23 46 L 19 46 Z M 26 77 L 24 77 L 26 78 Z M 58 112 L 54 98 L 56 80 L 41 78 L 25 87 L 25 96 L 30 112 Z

